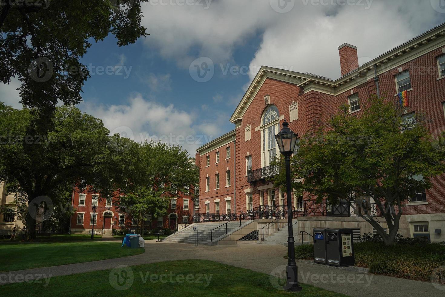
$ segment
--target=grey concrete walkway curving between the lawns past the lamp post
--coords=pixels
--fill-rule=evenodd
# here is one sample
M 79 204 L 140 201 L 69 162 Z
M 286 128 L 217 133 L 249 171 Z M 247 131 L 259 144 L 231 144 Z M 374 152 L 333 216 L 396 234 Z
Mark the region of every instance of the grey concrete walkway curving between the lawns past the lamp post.
M 284 276 L 287 248 L 275 244 L 239 244 L 198 246 L 146 241 L 146 252 L 124 258 L 68 264 L 11 273 L 0 273 L 0 284 L 9 283 L 10 275 L 45 274 L 54 276 L 113 269 L 118 265 L 140 265 L 171 260 L 213 260 L 223 264 Z M 430 282 L 410 281 L 396 277 L 368 274 L 367 269 L 335 268 L 312 261 L 297 261 L 299 281 L 350 296 L 439 296 L 445 291 Z M 6 277 L 5 277 L 6 276 Z M 6 281 L 4 281 L 6 279 Z M 216 278 L 215 278 L 216 279 Z M 444 288 L 445 289 L 445 288 Z

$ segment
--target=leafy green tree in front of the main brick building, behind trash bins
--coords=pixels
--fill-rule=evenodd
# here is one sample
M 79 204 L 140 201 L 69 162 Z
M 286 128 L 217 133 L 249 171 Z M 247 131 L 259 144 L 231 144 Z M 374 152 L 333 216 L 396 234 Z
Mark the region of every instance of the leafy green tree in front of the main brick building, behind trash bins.
M 364 102 L 365 103 L 365 102 Z M 371 98 L 363 114 L 349 115 L 340 107 L 314 134 L 306 134 L 291 159 L 292 186 L 331 205 L 346 201 L 393 244 L 403 205 L 416 191 L 431 187 L 430 179 L 443 174 L 444 152 L 425 128 L 425 117 L 408 114 L 398 102 Z M 285 184 L 283 170 L 276 178 Z M 371 197 L 388 224 L 385 232 L 363 200 Z

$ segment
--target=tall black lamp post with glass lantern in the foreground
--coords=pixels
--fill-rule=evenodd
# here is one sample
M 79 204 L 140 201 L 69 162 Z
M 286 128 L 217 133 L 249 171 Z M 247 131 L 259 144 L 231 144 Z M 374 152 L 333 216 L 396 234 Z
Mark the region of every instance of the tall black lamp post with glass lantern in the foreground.
M 283 129 L 275 135 L 279 151 L 284 155 L 286 163 L 286 189 L 287 189 L 287 224 L 289 235 L 287 237 L 287 267 L 286 267 L 286 286 L 284 289 L 291 292 L 300 292 L 298 285 L 298 267 L 295 262 L 295 240 L 292 226 L 292 201 L 291 201 L 291 155 L 294 153 L 298 134 L 289 129 L 289 123 L 284 120 Z

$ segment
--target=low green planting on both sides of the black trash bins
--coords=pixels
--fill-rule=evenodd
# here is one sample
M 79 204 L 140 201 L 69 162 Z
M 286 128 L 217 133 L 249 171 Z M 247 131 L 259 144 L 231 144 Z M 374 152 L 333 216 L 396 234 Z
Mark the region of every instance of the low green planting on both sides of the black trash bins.
M 445 244 L 415 243 L 385 246 L 381 242 L 354 244 L 356 266 L 370 273 L 429 281 L 433 270 L 445 265 Z M 314 259 L 312 244 L 295 247 L 296 259 Z

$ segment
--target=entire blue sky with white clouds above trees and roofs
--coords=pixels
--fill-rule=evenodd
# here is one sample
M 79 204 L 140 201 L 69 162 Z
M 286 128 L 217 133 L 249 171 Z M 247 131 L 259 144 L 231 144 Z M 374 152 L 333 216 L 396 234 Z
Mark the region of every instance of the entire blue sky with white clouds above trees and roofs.
M 108 37 L 82 58 L 92 77 L 79 108 L 191 155 L 234 129 L 261 65 L 336 79 L 339 45 L 356 45 L 361 65 L 445 21 L 443 0 L 152 0 L 142 10 L 150 36 L 122 48 Z M 18 86 L 0 85 L 0 101 L 20 108 Z

